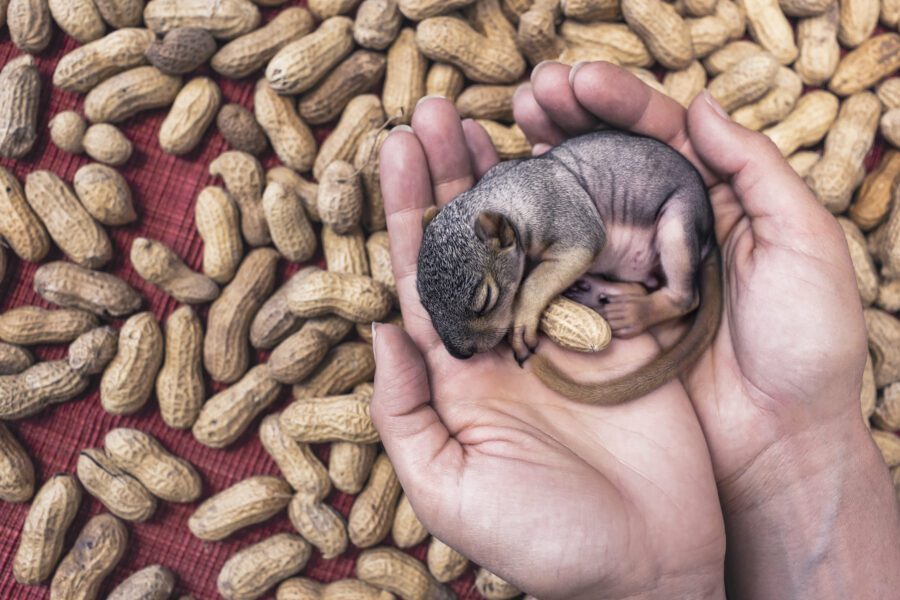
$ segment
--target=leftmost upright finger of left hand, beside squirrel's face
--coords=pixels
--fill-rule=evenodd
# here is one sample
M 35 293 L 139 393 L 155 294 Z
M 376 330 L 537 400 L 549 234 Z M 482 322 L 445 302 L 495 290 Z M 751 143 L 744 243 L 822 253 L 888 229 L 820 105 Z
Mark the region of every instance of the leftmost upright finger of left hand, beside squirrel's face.
M 381 192 L 391 246 L 391 265 L 403 323 L 420 348 L 438 342 L 416 291 L 416 263 L 422 245 L 422 217 L 434 206 L 425 151 L 409 128 L 388 135 L 380 155 Z

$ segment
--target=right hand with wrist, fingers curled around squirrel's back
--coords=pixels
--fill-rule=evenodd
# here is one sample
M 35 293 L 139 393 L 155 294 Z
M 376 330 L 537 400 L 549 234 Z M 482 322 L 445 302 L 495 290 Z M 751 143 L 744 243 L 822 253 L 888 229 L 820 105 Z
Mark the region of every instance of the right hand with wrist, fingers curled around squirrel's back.
M 843 538 L 852 552 L 867 536 L 871 544 L 897 532 L 887 473 L 860 417 L 865 323 L 834 218 L 774 144 L 710 100 L 699 97 L 685 111 L 608 63 L 574 73 L 545 63 L 514 104 L 538 151 L 603 121 L 668 143 L 704 176 L 725 262 L 725 310 L 716 339 L 683 381 L 719 484 L 732 585 L 737 593 L 797 597 L 785 584 L 793 574 L 815 596 L 818 570 L 791 571 L 817 560 L 805 550 L 826 552 Z M 658 334 L 671 343 L 676 331 Z M 863 485 L 850 489 L 860 474 Z M 862 523 L 851 514 L 873 509 L 879 517 Z M 875 580 L 868 563 L 856 565 L 856 576 Z M 860 597 L 881 597 L 862 589 Z

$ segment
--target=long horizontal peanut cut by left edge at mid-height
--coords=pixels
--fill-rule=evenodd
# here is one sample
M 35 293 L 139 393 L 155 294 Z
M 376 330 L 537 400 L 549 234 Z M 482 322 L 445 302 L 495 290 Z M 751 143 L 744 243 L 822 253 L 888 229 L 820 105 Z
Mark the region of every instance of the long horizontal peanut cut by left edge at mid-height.
M 20 306 L 0 315 L 0 340 L 22 346 L 68 343 L 97 325 L 97 317 L 83 310 Z

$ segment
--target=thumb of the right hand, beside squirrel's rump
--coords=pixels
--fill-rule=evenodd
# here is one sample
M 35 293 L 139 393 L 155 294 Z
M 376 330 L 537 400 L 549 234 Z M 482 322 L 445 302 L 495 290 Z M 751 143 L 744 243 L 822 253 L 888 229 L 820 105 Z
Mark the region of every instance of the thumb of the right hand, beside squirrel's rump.
M 828 212 L 765 135 L 738 125 L 705 90 L 691 103 L 688 133 L 700 159 L 731 183 L 751 219 L 808 223 Z

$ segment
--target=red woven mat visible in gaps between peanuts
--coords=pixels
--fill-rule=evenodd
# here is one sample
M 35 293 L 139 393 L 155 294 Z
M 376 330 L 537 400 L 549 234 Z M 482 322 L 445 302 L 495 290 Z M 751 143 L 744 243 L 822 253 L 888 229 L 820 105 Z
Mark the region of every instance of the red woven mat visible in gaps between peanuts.
M 288 4 L 301 3 L 295 0 Z M 264 11 L 265 18 L 271 18 L 277 10 Z M 22 181 L 33 170 L 49 169 L 71 182 L 75 171 L 89 162 L 84 156 L 61 152 L 50 143 L 47 134 L 47 123 L 52 115 L 68 109 L 80 111 L 82 108 L 83 96 L 53 89 L 51 85 L 56 62 L 76 45 L 74 40 L 56 29 L 51 46 L 37 57 L 43 84 L 40 140 L 24 160 L 0 160 L 0 164 L 13 171 Z M 0 32 L 0 66 L 18 54 L 19 51 L 10 42 L 8 30 L 3 28 Z M 203 74 L 214 75 L 211 71 Z M 252 108 L 254 77 L 240 82 L 220 77 L 215 79 L 222 88 L 223 102 L 237 102 Z M 131 240 L 137 236 L 160 240 L 173 248 L 188 265 L 199 269 L 203 244 L 194 227 L 194 199 L 203 187 L 217 183 L 207 173 L 207 165 L 226 149 L 224 140 L 215 132 L 215 127 L 212 127 L 193 153 L 181 158 L 164 154 L 157 140 L 164 117 L 165 111 L 157 110 L 129 119 L 122 126 L 134 143 L 135 152 L 128 164 L 119 171 L 131 184 L 140 220 L 137 225 L 130 227 L 107 228 L 116 248 L 116 256 L 106 269 L 139 290 L 144 295 L 146 306 L 161 323 L 176 308 L 177 303 L 132 272 L 125 258 L 131 247 Z M 267 167 L 277 164 L 271 151 L 263 162 Z M 23 263 L 11 253 L 9 255 L 9 271 L 5 281 L 0 284 L 0 310 L 30 304 L 49 307 L 32 290 L 32 276 L 36 265 Z M 47 260 L 60 258 L 61 253 L 55 250 Z M 282 276 L 295 269 L 296 266 L 283 265 Z M 65 354 L 65 348 L 39 348 L 36 354 L 42 359 L 58 358 Z M 135 427 L 151 433 L 172 452 L 194 464 L 203 477 L 204 497 L 251 475 L 278 474 L 278 469 L 257 438 L 258 419 L 229 448 L 211 450 L 195 441 L 190 431 L 168 428 L 160 418 L 155 402 L 148 403 L 136 415 L 116 417 L 107 414 L 100 407 L 98 383 L 99 379 L 87 393 L 72 402 L 9 425 L 34 460 L 39 482 L 46 481 L 57 472 L 74 473 L 79 451 L 102 446 L 103 436 L 114 427 Z M 289 398 L 285 394 L 272 410 L 280 410 L 287 402 Z M 327 458 L 327 447 L 317 450 L 323 460 Z M 339 492 L 333 492 L 328 501 L 345 517 L 353 505 L 351 496 Z M 128 551 L 106 581 L 100 597 L 105 597 L 132 572 L 147 565 L 161 563 L 177 573 L 178 593 L 193 594 L 198 600 L 216 598 L 216 577 L 229 556 L 274 533 L 292 530 L 287 516 L 282 514 L 267 523 L 243 530 L 223 542 L 203 542 L 193 537 L 187 528 L 187 519 L 196 506 L 197 504 L 161 502 L 149 522 L 128 524 Z M 12 559 L 27 510 L 27 504 L 0 503 L 0 598 L 3 600 L 49 597 L 48 585 L 21 586 L 12 575 Z M 67 536 L 67 550 L 88 518 L 103 510 L 98 501 L 85 495 L 78 517 Z M 390 540 L 386 543 L 390 543 Z M 319 581 L 352 577 L 358 554 L 358 549 L 351 548 L 343 556 L 326 561 L 315 553 L 304 574 Z M 415 548 L 412 554 L 424 560 L 425 545 Z M 473 580 L 473 571 L 470 569 L 462 579 L 453 584 L 453 589 L 460 598 L 480 598 L 474 590 Z

